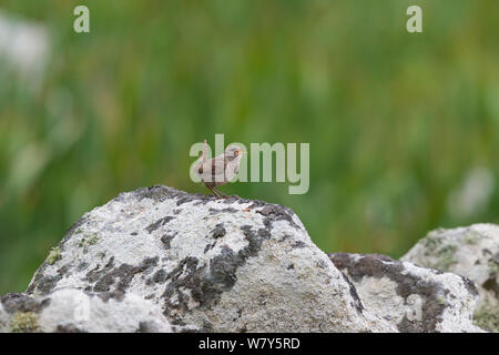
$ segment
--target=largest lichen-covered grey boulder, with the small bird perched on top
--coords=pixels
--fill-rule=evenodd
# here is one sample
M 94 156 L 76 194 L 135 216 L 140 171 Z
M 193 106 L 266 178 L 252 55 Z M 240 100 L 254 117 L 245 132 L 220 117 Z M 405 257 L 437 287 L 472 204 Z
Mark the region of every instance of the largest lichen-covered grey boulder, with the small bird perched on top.
M 289 209 L 165 186 L 83 215 L 23 296 L 50 300 L 37 311 L 47 332 L 396 332 Z M 90 321 L 61 324 L 74 318 L 73 297 L 89 302 Z

